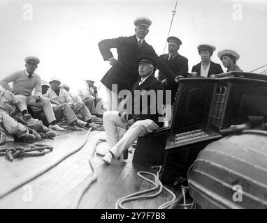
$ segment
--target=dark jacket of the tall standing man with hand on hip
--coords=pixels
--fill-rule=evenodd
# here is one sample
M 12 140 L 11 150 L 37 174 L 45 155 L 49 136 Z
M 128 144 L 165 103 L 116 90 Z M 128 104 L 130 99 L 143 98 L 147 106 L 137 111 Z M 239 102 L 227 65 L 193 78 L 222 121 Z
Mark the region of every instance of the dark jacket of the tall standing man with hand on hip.
M 166 77 L 170 79 L 175 77 L 171 69 L 159 59 L 153 47 L 148 45 L 145 40 L 142 47 L 138 48 L 136 35 L 99 42 L 99 50 L 104 61 L 113 57 L 110 51 L 111 48 L 117 48 L 117 63 L 101 79 L 101 82 L 110 90 L 112 89 L 112 84 L 117 84 L 117 92 L 123 89 L 131 90 L 131 87 L 139 77 L 138 59 L 143 55 L 154 56 L 157 60 L 157 68 L 164 72 Z

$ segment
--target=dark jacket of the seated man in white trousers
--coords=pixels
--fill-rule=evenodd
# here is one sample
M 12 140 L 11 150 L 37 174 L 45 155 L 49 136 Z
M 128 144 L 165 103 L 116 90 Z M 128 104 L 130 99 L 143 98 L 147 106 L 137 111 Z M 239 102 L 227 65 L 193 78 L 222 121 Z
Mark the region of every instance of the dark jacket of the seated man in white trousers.
M 164 92 L 164 86 L 159 82 L 159 80 L 154 77 L 154 75 L 150 75 L 150 77 L 147 77 L 145 79 L 145 82 L 139 85 L 140 77 L 138 78 L 138 81 L 133 84 L 133 87 L 131 89 L 131 111 L 129 111 L 129 119 L 134 118 L 135 120 L 144 120 L 144 119 L 151 119 L 154 121 L 154 123 L 157 123 L 159 127 L 163 125 L 163 122 L 159 122 L 159 116 L 161 115 L 161 112 L 157 109 L 157 98 L 159 92 Z M 135 92 L 135 90 L 138 90 Z M 145 90 L 145 91 L 143 91 Z M 153 90 L 155 98 L 150 98 L 150 90 Z M 157 90 L 160 90 L 157 92 Z M 148 95 L 148 96 L 147 96 Z M 164 96 L 164 95 L 163 95 Z M 142 106 L 142 99 L 147 97 L 147 103 L 145 103 L 145 107 Z M 139 99 L 139 100 L 138 100 Z M 164 97 L 163 97 L 164 99 Z M 129 100 L 129 98 L 127 98 Z M 145 99 L 143 99 L 145 101 Z M 164 100 L 162 101 L 164 103 Z M 162 107 L 162 106 L 160 106 Z M 150 110 L 152 108 L 152 111 Z M 125 109 L 125 108 L 124 108 Z M 136 112 L 136 110 L 138 112 Z M 154 111 L 154 112 L 153 112 Z M 139 113 L 139 114 L 137 114 Z M 146 114 L 147 113 L 147 114 Z

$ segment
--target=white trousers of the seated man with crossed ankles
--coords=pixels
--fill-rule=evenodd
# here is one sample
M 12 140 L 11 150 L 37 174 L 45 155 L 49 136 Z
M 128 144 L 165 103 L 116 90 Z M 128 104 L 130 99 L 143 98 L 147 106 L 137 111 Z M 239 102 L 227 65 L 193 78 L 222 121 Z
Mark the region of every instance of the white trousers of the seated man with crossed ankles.
M 106 137 L 110 152 L 115 157 L 120 157 L 122 153 L 130 148 L 138 137 L 143 137 L 145 134 L 153 132 L 159 128 L 159 125 L 150 119 L 136 121 L 127 132 L 119 139 L 119 128 L 126 128 L 127 123 L 122 123 L 119 112 L 107 111 L 103 114 L 103 125 L 106 131 Z

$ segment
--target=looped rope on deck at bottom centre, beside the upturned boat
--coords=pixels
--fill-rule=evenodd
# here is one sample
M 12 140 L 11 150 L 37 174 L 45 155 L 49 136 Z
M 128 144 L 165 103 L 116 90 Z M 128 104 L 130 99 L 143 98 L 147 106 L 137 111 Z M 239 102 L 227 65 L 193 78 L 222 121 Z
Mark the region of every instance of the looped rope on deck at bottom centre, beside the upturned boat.
M 129 194 L 125 197 L 122 197 L 120 199 L 117 200 L 117 202 L 115 203 L 115 208 L 116 209 L 127 209 L 125 206 L 123 206 L 123 203 L 127 203 L 129 201 L 134 201 L 134 200 L 138 200 L 138 199 L 151 199 L 154 197 L 157 197 L 159 194 L 161 194 L 162 190 L 166 190 L 166 192 L 168 192 L 169 194 L 171 194 L 171 196 L 173 197 L 173 199 L 171 199 L 171 201 L 168 201 L 164 204 L 162 204 L 161 206 L 159 206 L 158 209 L 166 209 L 169 206 L 171 206 L 173 203 L 175 203 L 176 201 L 176 195 L 169 190 L 167 187 L 165 187 L 164 185 L 162 185 L 161 181 L 159 180 L 159 173 L 161 172 L 161 166 L 159 167 L 152 167 L 152 169 L 156 169 L 159 168 L 159 171 L 157 171 L 157 174 L 152 174 L 150 172 L 147 171 L 138 171 L 137 175 L 142 178 L 143 180 L 152 183 L 152 185 L 154 185 L 154 187 L 148 189 L 148 190 L 143 190 L 141 192 L 135 192 L 133 194 Z M 143 176 L 142 174 L 147 174 L 150 175 L 154 178 L 153 180 L 150 180 L 148 178 L 145 178 L 145 176 Z M 159 190 L 158 190 L 159 189 Z M 149 192 L 152 192 L 154 190 L 158 190 L 156 193 L 154 194 L 148 194 L 148 195 L 143 195 L 143 194 L 147 194 Z

